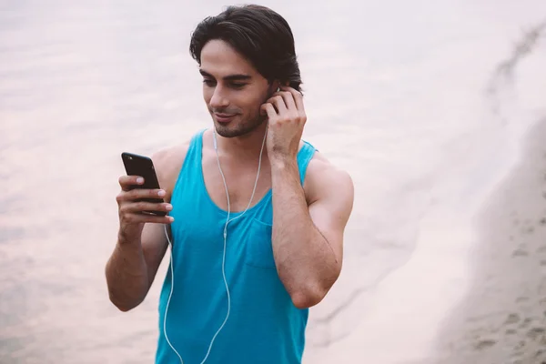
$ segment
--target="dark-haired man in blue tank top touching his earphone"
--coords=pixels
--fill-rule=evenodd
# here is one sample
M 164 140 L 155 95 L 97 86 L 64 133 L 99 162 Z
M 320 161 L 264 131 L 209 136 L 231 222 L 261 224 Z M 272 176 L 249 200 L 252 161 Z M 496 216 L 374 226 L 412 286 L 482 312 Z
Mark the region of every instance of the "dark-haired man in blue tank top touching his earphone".
M 228 7 L 197 25 L 190 51 L 214 127 L 152 157 L 161 190 L 119 178 L 110 299 L 127 311 L 146 298 L 170 235 L 157 363 L 299 363 L 308 308 L 339 277 L 351 179 L 301 140 L 294 38 L 280 15 Z M 157 209 L 167 217 L 141 213 Z

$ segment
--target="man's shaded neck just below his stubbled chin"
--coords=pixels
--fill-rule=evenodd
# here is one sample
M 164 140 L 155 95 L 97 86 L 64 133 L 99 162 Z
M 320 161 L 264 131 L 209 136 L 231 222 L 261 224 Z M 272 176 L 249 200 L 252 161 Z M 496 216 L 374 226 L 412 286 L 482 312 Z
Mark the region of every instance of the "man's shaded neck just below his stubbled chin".
M 237 157 L 239 160 L 255 160 L 263 144 L 262 156 L 267 157 L 268 151 L 264 144 L 267 126 L 267 122 L 264 122 L 244 136 L 224 137 L 216 133 L 218 152 L 229 157 Z

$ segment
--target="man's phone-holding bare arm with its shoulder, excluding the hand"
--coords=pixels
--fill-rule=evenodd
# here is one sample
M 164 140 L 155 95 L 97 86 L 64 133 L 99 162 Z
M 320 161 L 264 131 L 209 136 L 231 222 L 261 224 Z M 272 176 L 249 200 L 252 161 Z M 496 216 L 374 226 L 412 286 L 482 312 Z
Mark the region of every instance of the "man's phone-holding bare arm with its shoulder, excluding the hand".
M 160 151 L 152 157 L 159 185 L 167 192 L 166 202 L 170 202 L 186 151 L 187 145 Z M 128 311 L 146 298 L 167 245 L 163 224 L 146 223 L 140 237 L 132 239 L 126 238 L 120 227 L 116 247 L 106 262 L 108 294 L 117 308 Z

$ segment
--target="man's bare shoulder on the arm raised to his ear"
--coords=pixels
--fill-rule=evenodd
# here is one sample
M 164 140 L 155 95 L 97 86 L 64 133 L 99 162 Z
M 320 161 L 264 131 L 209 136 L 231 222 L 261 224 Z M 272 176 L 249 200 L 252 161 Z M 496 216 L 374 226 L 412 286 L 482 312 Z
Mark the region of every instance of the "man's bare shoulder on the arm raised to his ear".
M 354 185 L 349 172 L 339 168 L 323 154 L 316 152 L 308 164 L 304 189 L 308 205 L 318 200 L 335 199 L 352 209 Z

